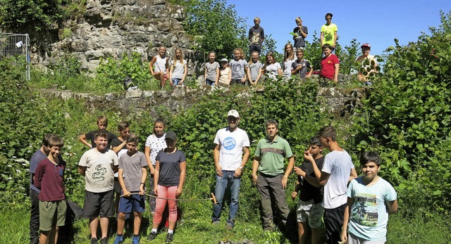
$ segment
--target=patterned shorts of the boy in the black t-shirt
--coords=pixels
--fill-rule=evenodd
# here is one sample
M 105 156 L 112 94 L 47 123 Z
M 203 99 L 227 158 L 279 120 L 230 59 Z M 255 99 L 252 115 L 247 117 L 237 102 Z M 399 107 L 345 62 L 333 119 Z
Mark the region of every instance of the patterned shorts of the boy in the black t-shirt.
M 297 202 L 297 221 L 308 222 L 311 229 L 321 227 L 324 208 L 321 203 L 306 203 L 302 200 Z

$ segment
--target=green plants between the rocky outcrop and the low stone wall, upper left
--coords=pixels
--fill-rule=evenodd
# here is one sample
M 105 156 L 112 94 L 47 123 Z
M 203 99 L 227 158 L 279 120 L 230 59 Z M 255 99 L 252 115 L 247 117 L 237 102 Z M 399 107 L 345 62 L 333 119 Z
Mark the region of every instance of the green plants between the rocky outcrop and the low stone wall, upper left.
M 54 88 L 78 92 L 105 94 L 123 91 L 123 80 L 130 77 L 140 89 L 158 89 L 158 82 L 150 75 L 149 63 L 142 61 L 140 53 L 123 53 L 121 59 L 101 59 L 93 75 L 80 70 L 77 57 L 67 54 L 50 63 L 47 70 L 32 70 L 30 86 L 33 88 Z M 194 86 L 192 79 L 187 85 Z M 169 84 L 167 84 L 167 87 Z

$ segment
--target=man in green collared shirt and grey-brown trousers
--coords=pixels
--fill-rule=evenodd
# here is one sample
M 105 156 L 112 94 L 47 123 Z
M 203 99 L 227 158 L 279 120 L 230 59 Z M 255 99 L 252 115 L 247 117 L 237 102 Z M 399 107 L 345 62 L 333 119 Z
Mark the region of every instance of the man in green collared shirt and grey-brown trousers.
M 285 225 L 290 212 L 285 201 L 285 188 L 287 187 L 288 176 L 295 165 L 295 158 L 293 158 L 288 141 L 280 138 L 277 132 L 278 122 L 268 120 L 266 122 L 266 133 L 268 135 L 257 144 L 254 163 L 252 164 L 252 181 L 257 184 L 261 196 L 261 214 L 263 215 L 265 231 L 274 229 L 271 195 L 276 201 L 283 225 Z M 284 172 L 285 158 L 288 158 L 288 167 Z M 257 172 L 259 172 L 258 175 Z

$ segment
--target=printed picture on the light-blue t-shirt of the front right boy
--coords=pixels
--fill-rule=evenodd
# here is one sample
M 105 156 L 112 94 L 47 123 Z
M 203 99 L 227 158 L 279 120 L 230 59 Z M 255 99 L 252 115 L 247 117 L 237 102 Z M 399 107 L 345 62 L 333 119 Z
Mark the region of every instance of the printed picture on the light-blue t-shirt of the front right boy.
M 357 193 L 354 200 L 351 219 L 362 226 L 376 226 L 378 224 L 377 195 Z

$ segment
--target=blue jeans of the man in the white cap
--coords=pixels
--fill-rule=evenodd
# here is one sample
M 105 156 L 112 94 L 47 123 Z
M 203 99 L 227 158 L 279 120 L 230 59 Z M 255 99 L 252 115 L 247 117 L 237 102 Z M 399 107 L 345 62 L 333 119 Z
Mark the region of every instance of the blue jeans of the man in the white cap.
M 213 214 L 211 215 L 211 221 L 216 222 L 221 219 L 221 207 L 223 203 L 224 193 L 226 188 L 230 186 L 230 195 L 232 200 L 230 202 L 230 210 L 228 213 L 227 224 L 235 226 L 235 217 L 238 211 L 238 195 L 240 193 L 241 176 L 235 178 L 233 174 L 235 171 L 223 170 L 223 176 L 216 175 L 216 188 L 214 195 L 216 197 L 216 204 L 213 205 Z

